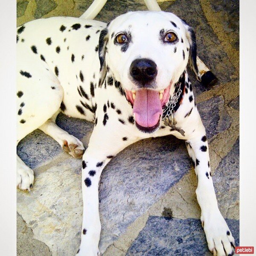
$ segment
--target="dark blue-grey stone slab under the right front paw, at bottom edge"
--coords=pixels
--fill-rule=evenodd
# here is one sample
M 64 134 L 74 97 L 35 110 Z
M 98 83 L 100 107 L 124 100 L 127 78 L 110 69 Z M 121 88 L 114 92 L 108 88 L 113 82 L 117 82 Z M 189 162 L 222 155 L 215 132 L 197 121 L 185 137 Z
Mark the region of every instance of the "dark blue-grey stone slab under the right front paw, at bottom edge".
M 226 219 L 239 246 L 239 221 Z M 126 256 L 212 256 L 198 219 L 153 217 L 128 249 Z

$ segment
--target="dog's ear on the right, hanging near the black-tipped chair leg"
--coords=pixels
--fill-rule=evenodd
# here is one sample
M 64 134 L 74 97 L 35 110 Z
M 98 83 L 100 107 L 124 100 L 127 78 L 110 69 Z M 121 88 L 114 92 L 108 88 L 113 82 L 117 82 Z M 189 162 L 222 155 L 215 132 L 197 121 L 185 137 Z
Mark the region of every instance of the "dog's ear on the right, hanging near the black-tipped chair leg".
M 190 46 L 190 49 L 189 49 L 189 65 L 190 65 L 190 67 L 192 67 L 192 70 L 194 71 L 198 81 L 201 81 L 201 76 L 199 74 L 198 66 L 197 66 L 197 63 L 196 63 L 196 56 L 197 56 L 196 48 L 197 48 L 197 46 L 196 46 L 195 31 L 192 29 L 192 27 L 190 27 L 186 23 L 185 20 L 182 20 L 182 21 L 183 21 L 183 24 L 184 24 L 185 29 L 186 29 L 186 38 L 188 39 L 189 46 Z

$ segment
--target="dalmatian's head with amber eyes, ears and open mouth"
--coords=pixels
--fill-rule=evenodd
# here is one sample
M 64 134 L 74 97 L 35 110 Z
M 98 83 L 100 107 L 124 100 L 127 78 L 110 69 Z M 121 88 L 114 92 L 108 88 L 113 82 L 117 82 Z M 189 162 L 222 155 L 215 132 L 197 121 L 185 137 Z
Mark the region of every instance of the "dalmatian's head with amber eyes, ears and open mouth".
M 128 12 L 116 17 L 99 38 L 101 81 L 106 67 L 133 105 L 137 127 L 155 131 L 174 85 L 191 61 L 195 73 L 193 30 L 169 12 Z

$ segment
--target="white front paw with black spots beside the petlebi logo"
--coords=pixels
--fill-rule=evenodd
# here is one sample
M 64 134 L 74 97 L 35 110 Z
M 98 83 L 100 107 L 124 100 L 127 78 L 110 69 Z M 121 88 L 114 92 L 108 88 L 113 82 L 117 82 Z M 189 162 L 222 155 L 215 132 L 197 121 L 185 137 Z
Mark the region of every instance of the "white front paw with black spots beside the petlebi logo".
M 214 256 L 234 254 L 235 239 L 219 210 L 207 212 L 201 216 L 208 248 Z

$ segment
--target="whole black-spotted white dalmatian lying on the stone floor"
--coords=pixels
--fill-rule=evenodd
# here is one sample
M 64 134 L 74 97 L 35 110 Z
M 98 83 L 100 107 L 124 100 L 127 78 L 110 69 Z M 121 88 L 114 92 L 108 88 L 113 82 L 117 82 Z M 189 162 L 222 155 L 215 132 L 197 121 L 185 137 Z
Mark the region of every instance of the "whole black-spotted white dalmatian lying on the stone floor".
M 185 140 L 209 250 L 233 255 L 235 241 L 212 183 L 204 125 L 186 72 L 198 74 L 193 29 L 168 12 L 128 12 L 105 24 L 74 17 L 17 28 L 17 143 L 39 128 L 82 157 L 83 221 L 77 255 L 99 256 L 99 180 L 108 162 L 139 140 Z M 88 148 L 55 124 L 58 113 L 94 122 Z M 32 188 L 17 157 L 17 186 Z

